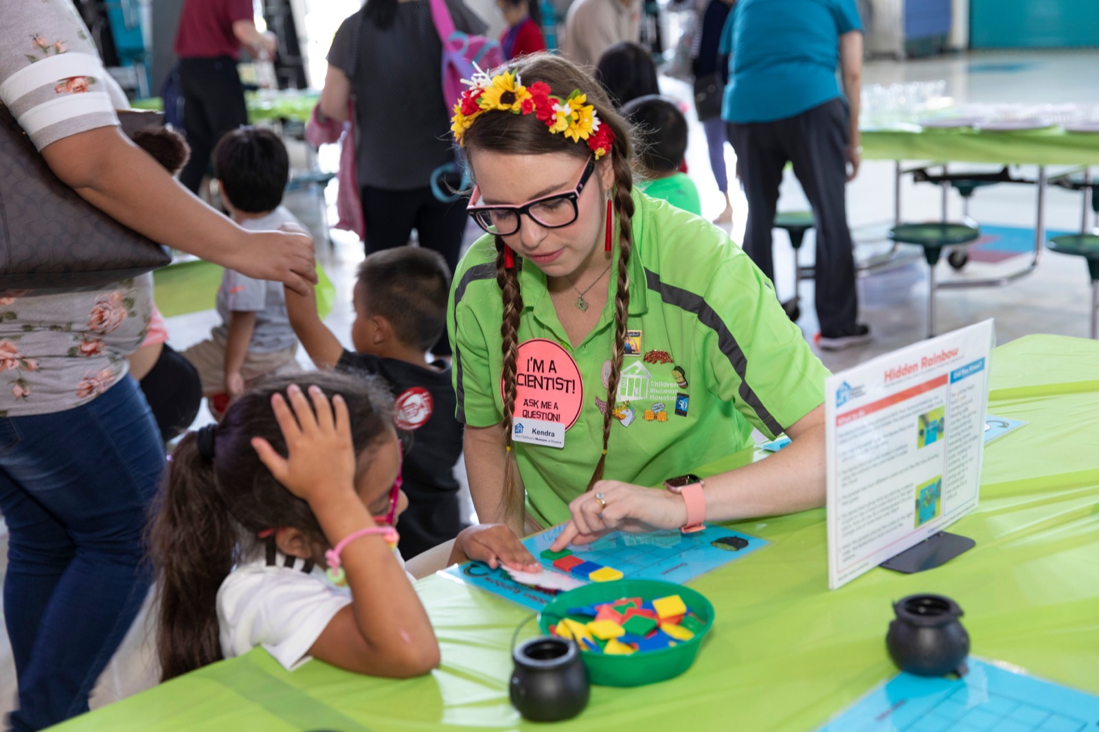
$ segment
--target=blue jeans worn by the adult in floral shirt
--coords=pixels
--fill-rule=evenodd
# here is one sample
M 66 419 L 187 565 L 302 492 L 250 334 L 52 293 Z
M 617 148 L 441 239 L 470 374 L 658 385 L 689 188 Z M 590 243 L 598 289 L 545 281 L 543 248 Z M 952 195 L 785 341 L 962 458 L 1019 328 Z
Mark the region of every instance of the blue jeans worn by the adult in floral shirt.
M 19 678 L 12 729 L 88 710 L 152 583 L 142 536 L 164 464 L 156 422 L 129 376 L 75 409 L 0 418 L 3 607 Z

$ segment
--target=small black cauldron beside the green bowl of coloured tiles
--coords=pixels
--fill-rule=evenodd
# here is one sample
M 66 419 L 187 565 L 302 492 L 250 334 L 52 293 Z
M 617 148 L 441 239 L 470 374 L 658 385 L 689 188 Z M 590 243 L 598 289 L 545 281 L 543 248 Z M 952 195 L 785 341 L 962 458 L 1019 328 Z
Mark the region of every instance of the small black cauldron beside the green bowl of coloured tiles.
M 576 644 L 543 635 L 512 652 L 511 703 L 534 722 L 576 717 L 588 706 L 588 668 Z

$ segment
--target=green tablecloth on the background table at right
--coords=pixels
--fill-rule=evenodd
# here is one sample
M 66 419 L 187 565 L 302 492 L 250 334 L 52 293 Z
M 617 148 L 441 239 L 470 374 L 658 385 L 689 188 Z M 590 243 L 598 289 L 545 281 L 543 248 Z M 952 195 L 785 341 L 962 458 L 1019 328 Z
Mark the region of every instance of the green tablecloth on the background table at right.
M 997 165 L 1099 165 L 1099 134 L 1061 127 L 981 132 L 970 127 L 921 132 L 864 130 L 863 157 L 877 160 L 937 160 Z

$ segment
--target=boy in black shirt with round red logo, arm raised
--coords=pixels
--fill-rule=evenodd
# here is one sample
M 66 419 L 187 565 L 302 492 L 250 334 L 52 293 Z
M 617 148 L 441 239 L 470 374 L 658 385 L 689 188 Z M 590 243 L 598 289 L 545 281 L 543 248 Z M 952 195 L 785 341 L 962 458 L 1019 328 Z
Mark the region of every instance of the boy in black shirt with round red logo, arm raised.
M 454 478 L 462 425 L 454 418 L 451 366 L 424 358 L 446 328 L 449 290 L 449 269 L 436 252 L 399 246 L 369 255 L 355 284 L 355 353 L 321 322 L 315 295 L 286 290 L 290 324 L 318 368 L 376 374 L 392 388 L 397 426 L 412 436 L 402 467 L 409 507 L 398 545 L 406 559 L 465 528 Z

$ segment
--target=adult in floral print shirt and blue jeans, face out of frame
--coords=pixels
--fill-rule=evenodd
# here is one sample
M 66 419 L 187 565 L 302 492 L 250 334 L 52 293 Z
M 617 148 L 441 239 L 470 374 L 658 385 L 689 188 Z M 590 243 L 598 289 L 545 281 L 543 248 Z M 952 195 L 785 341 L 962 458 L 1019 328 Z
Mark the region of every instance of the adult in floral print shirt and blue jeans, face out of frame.
M 308 236 L 240 229 L 123 136 L 114 110 L 125 97 L 69 0 L 0 0 L 0 103 L 62 180 L 162 244 L 302 291 L 315 281 Z M 145 275 L 101 288 L 0 291 L 15 730 L 88 709 L 149 586 L 140 540 L 164 451 L 125 357 L 145 335 L 151 290 Z

